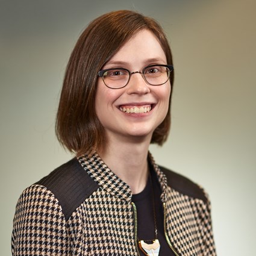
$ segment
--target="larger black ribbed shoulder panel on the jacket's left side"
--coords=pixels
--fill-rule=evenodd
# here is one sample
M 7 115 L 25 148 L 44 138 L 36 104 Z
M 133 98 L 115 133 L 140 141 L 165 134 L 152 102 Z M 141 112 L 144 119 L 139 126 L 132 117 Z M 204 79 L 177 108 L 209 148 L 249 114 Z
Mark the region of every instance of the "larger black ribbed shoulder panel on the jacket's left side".
M 61 165 L 35 184 L 45 186 L 54 193 L 66 220 L 99 187 L 76 158 Z

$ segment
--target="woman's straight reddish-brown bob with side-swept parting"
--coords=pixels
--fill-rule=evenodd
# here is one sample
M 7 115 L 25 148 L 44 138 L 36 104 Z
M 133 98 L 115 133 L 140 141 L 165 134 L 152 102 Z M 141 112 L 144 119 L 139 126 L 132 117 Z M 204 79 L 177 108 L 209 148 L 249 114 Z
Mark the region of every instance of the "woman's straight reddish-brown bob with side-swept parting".
M 152 18 L 129 10 L 112 11 L 89 23 L 76 42 L 64 75 L 55 131 L 61 145 L 77 156 L 92 154 L 106 142 L 104 127 L 95 111 L 98 72 L 131 37 L 141 30 L 151 31 L 172 63 L 169 43 L 160 25 Z M 173 85 L 173 72 L 170 73 Z M 172 90 L 171 90 L 172 93 Z M 171 99 L 171 96 L 170 96 Z M 151 143 L 162 145 L 169 134 L 169 110 L 155 129 Z

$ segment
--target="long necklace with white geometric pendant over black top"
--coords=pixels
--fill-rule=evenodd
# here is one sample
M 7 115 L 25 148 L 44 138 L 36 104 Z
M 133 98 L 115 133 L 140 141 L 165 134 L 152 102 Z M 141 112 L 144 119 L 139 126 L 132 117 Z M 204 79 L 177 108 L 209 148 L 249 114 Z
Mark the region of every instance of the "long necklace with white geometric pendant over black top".
M 152 183 L 151 173 L 149 172 L 149 180 L 152 190 L 152 202 L 153 202 L 153 213 L 154 213 L 154 226 L 155 226 L 155 238 L 154 240 L 139 240 L 139 248 L 145 255 L 158 256 L 160 252 L 160 242 L 157 239 L 157 216 L 155 213 L 155 193 Z

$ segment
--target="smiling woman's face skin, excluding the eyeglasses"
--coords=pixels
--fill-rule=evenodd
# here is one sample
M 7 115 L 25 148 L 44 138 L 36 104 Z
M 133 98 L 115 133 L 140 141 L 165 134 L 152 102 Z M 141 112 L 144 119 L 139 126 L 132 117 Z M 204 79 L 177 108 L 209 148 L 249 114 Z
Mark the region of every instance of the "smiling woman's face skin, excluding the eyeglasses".
M 102 69 L 123 67 L 134 72 L 151 64 L 168 63 L 154 34 L 142 30 L 128 40 Z M 140 137 L 151 140 L 155 128 L 166 117 L 170 90 L 169 80 L 161 86 L 151 86 L 140 73 L 134 73 L 121 89 L 110 89 L 102 78 L 98 78 L 95 109 L 107 139 Z M 134 111 L 137 108 L 143 113 L 132 113 L 137 112 Z

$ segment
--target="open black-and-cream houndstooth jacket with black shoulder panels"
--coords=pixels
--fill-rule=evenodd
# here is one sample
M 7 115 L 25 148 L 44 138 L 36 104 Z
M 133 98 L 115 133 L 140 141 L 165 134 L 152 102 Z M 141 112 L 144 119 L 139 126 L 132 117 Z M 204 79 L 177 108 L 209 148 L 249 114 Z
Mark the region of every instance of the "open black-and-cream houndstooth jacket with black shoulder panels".
M 210 202 L 201 187 L 157 166 L 166 239 L 175 255 L 214 256 Z M 73 158 L 25 189 L 13 255 L 138 255 L 131 190 L 101 160 Z

